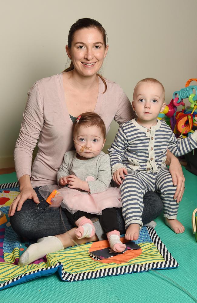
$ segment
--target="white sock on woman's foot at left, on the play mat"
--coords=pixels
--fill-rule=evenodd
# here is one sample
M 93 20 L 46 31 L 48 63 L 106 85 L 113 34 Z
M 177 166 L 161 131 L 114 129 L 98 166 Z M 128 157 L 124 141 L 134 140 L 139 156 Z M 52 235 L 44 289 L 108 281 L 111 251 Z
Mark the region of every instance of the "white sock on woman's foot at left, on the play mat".
M 18 266 L 25 266 L 29 263 L 44 257 L 55 251 L 64 249 L 62 242 L 55 236 L 38 239 L 37 243 L 30 245 L 21 255 Z

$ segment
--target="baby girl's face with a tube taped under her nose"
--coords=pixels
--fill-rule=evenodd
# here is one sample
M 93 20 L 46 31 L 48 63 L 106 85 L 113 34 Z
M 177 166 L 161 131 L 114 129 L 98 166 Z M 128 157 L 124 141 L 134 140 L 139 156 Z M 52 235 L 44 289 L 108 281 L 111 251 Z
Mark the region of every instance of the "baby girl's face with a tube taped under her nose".
M 85 160 L 85 158 L 93 158 L 100 154 L 105 144 L 105 138 L 97 126 L 81 126 L 75 134 L 74 143 L 78 153 L 77 157 Z M 89 149 L 83 150 L 83 147 Z

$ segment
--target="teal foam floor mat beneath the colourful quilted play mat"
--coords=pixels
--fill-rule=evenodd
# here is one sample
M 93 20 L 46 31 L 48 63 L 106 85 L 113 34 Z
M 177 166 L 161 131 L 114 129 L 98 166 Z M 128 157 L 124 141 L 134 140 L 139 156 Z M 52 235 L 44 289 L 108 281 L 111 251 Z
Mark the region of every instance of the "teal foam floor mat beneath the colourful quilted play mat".
M 184 224 L 185 232 L 176 235 L 164 223 L 160 216 L 155 221 L 155 230 L 166 247 L 178 261 L 174 270 L 162 270 L 159 273 L 168 276 L 197 298 L 196 288 L 196 252 L 197 242 L 192 234 L 191 216 L 197 207 L 197 176 L 183 168 L 185 194 L 179 208 L 178 219 Z M 6 180 L 13 182 L 15 180 Z M 3 182 L 5 182 L 3 180 Z M 2 182 L 2 183 L 3 183 Z M 58 274 L 41 277 L 0 292 L 2 302 L 169 302 L 189 303 L 192 298 L 158 277 L 154 272 L 122 275 L 93 279 L 75 283 L 61 281 Z

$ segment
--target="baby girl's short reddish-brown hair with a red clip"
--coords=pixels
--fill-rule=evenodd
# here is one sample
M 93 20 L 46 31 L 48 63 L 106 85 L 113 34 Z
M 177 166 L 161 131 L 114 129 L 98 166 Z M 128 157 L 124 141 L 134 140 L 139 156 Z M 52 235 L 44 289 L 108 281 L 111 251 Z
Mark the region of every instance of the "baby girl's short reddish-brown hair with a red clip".
M 94 112 L 86 112 L 78 116 L 78 119 L 73 123 L 73 128 L 72 128 L 73 137 L 75 137 L 80 126 L 85 126 L 85 127 L 97 126 L 98 128 L 100 128 L 104 139 L 106 138 L 105 123 L 103 122 L 102 118 Z

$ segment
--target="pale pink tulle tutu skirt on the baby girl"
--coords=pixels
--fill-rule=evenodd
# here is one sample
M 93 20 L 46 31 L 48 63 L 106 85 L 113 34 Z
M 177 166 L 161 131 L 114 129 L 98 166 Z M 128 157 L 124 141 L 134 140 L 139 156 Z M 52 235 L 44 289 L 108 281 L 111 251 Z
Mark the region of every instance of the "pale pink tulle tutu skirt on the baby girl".
M 79 191 L 74 188 L 58 188 L 55 185 L 46 185 L 39 188 L 43 198 L 48 198 L 50 193 L 58 190 L 58 194 L 53 198 L 50 207 L 66 208 L 71 214 L 76 211 L 86 211 L 90 214 L 101 215 L 105 208 L 122 207 L 120 202 L 120 191 L 117 187 L 109 187 L 106 191 L 99 194 L 90 195 L 87 191 Z

